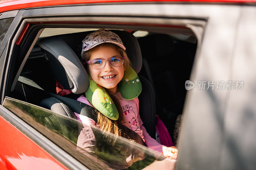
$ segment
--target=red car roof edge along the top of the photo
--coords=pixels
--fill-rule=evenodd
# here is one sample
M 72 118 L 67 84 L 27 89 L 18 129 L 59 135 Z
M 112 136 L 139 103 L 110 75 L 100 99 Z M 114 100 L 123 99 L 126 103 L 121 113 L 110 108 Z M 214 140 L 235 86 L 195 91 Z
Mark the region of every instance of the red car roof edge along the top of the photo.
M 0 13 L 5 11 L 20 10 L 25 8 L 59 6 L 68 4 L 91 3 L 122 3 L 122 2 L 195 2 L 195 3 L 223 3 L 223 4 L 255 4 L 256 0 L 1 0 Z

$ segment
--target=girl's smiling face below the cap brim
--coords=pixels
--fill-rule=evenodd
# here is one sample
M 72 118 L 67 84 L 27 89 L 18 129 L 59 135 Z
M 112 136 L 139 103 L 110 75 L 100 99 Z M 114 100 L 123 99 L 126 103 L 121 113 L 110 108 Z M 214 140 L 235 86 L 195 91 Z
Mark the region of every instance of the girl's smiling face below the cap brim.
M 113 56 L 121 56 L 121 54 L 110 46 L 99 46 L 91 54 L 90 60 L 94 59 L 109 59 Z M 91 64 L 88 64 L 88 71 L 97 84 L 100 86 L 109 89 L 111 92 L 117 93 L 117 84 L 122 80 L 124 76 L 124 65 L 119 67 L 113 67 L 111 64 L 106 61 L 106 65 L 100 69 L 92 68 Z M 104 79 L 103 76 L 114 76 L 112 78 Z

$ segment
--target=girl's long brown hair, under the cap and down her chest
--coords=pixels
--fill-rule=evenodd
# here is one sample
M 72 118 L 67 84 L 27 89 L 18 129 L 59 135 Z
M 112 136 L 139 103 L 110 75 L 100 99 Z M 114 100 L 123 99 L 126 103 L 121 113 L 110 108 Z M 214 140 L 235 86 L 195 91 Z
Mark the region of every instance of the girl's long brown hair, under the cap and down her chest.
M 131 66 L 131 61 L 129 60 L 124 49 L 122 49 L 119 46 L 116 46 L 115 44 L 112 44 L 112 43 L 102 43 L 98 46 L 93 47 L 92 49 L 90 49 L 88 51 L 85 51 L 82 54 L 81 60 L 82 60 L 82 63 L 86 70 L 88 70 L 86 61 L 89 61 L 92 53 L 101 46 L 112 47 L 117 52 L 119 52 L 121 56 L 125 56 L 125 59 L 124 59 L 124 68 L 125 69 L 127 69 L 129 66 Z M 98 115 L 97 127 L 99 127 L 103 132 L 108 131 L 108 132 L 114 133 L 116 136 L 122 136 L 124 138 L 134 140 L 133 133 L 126 131 L 124 128 L 123 123 L 126 123 L 127 121 L 124 118 L 123 110 L 122 110 L 122 107 L 120 105 L 118 98 L 116 97 L 116 94 L 110 92 L 108 89 L 106 89 L 106 91 L 108 92 L 108 95 L 112 99 L 113 103 L 115 103 L 115 105 L 116 105 L 117 111 L 119 113 L 119 118 L 117 120 L 111 120 L 108 117 L 106 117 L 105 115 L 103 115 L 102 113 L 100 113 L 99 110 L 95 109 L 95 112 Z M 113 141 L 113 143 L 115 143 L 115 140 Z

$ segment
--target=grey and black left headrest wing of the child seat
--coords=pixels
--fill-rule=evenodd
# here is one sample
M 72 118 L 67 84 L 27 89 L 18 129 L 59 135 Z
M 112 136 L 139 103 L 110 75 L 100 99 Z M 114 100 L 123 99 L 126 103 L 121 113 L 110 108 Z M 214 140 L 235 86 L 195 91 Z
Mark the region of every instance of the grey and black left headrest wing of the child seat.
M 89 87 L 84 66 L 74 51 L 57 36 L 40 39 L 38 45 L 49 63 L 55 79 L 64 89 L 80 94 Z

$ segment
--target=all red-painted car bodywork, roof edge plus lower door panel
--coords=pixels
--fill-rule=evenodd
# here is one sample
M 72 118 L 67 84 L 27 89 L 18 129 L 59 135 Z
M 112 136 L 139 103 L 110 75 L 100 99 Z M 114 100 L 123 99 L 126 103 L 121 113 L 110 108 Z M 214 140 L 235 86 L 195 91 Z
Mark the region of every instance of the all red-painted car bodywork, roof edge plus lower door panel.
M 124 2 L 156 2 L 156 0 L 1 0 L 0 15 L 6 11 L 46 6 Z M 255 4 L 256 0 L 159 0 L 157 2 Z M 20 33 L 16 44 L 20 44 L 28 28 L 29 24 Z M 68 169 L 1 116 L 0 129 L 0 169 L 35 169 L 35 167 L 37 169 Z

